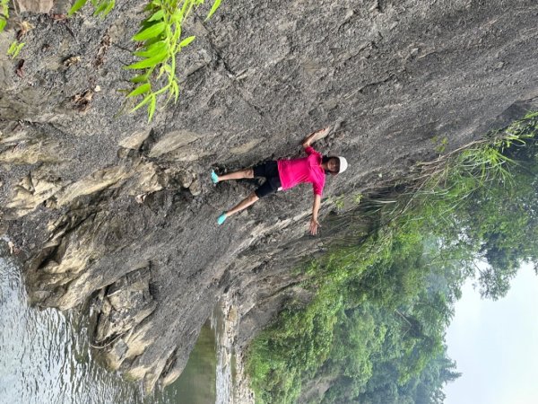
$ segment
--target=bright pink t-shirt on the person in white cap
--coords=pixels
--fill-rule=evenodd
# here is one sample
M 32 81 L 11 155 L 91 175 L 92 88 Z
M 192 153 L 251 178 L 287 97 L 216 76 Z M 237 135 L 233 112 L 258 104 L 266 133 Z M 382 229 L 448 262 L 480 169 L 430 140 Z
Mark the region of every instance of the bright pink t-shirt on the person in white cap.
M 312 146 L 308 146 L 305 152 L 308 157 L 277 161 L 282 189 L 290 189 L 301 182 L 311 182 L 314 194 L 321 197 L 325 186 L 325 171 L 321 168 L 322 156 Z

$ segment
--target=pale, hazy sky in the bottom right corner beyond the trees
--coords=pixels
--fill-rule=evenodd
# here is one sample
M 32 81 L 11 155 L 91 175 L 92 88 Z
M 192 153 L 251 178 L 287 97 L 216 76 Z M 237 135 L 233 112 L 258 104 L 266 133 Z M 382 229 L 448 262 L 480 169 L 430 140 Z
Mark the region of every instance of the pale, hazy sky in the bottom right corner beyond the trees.
M 445 404 L 538 403 L 538 277 L 521 268 L 508 294 L 482 300 L 470 280 L 447 330 L 448 356 L 463 373 Z

